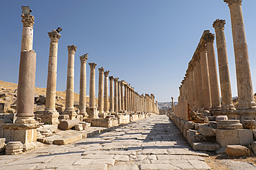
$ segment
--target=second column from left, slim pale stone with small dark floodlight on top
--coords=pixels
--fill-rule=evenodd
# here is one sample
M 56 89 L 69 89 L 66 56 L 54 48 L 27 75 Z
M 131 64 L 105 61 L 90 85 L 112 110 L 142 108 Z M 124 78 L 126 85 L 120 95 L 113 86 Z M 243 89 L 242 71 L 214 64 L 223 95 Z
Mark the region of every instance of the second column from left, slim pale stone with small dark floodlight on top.
M 55 109 L 55 96 L 56 96 L 56 81 L 57 81 L 57 47 L 60 39 L 60 34 L 53 30 L 48 32 L 48 36 L 51 39 L 49 60 L 48 60 L 48 76 L 46 87 L 46 107 L 44 109 L 44 116 L 42 116 L 42 122 L 49 121 L 51 125 L 59 123 L 59 113 Z

